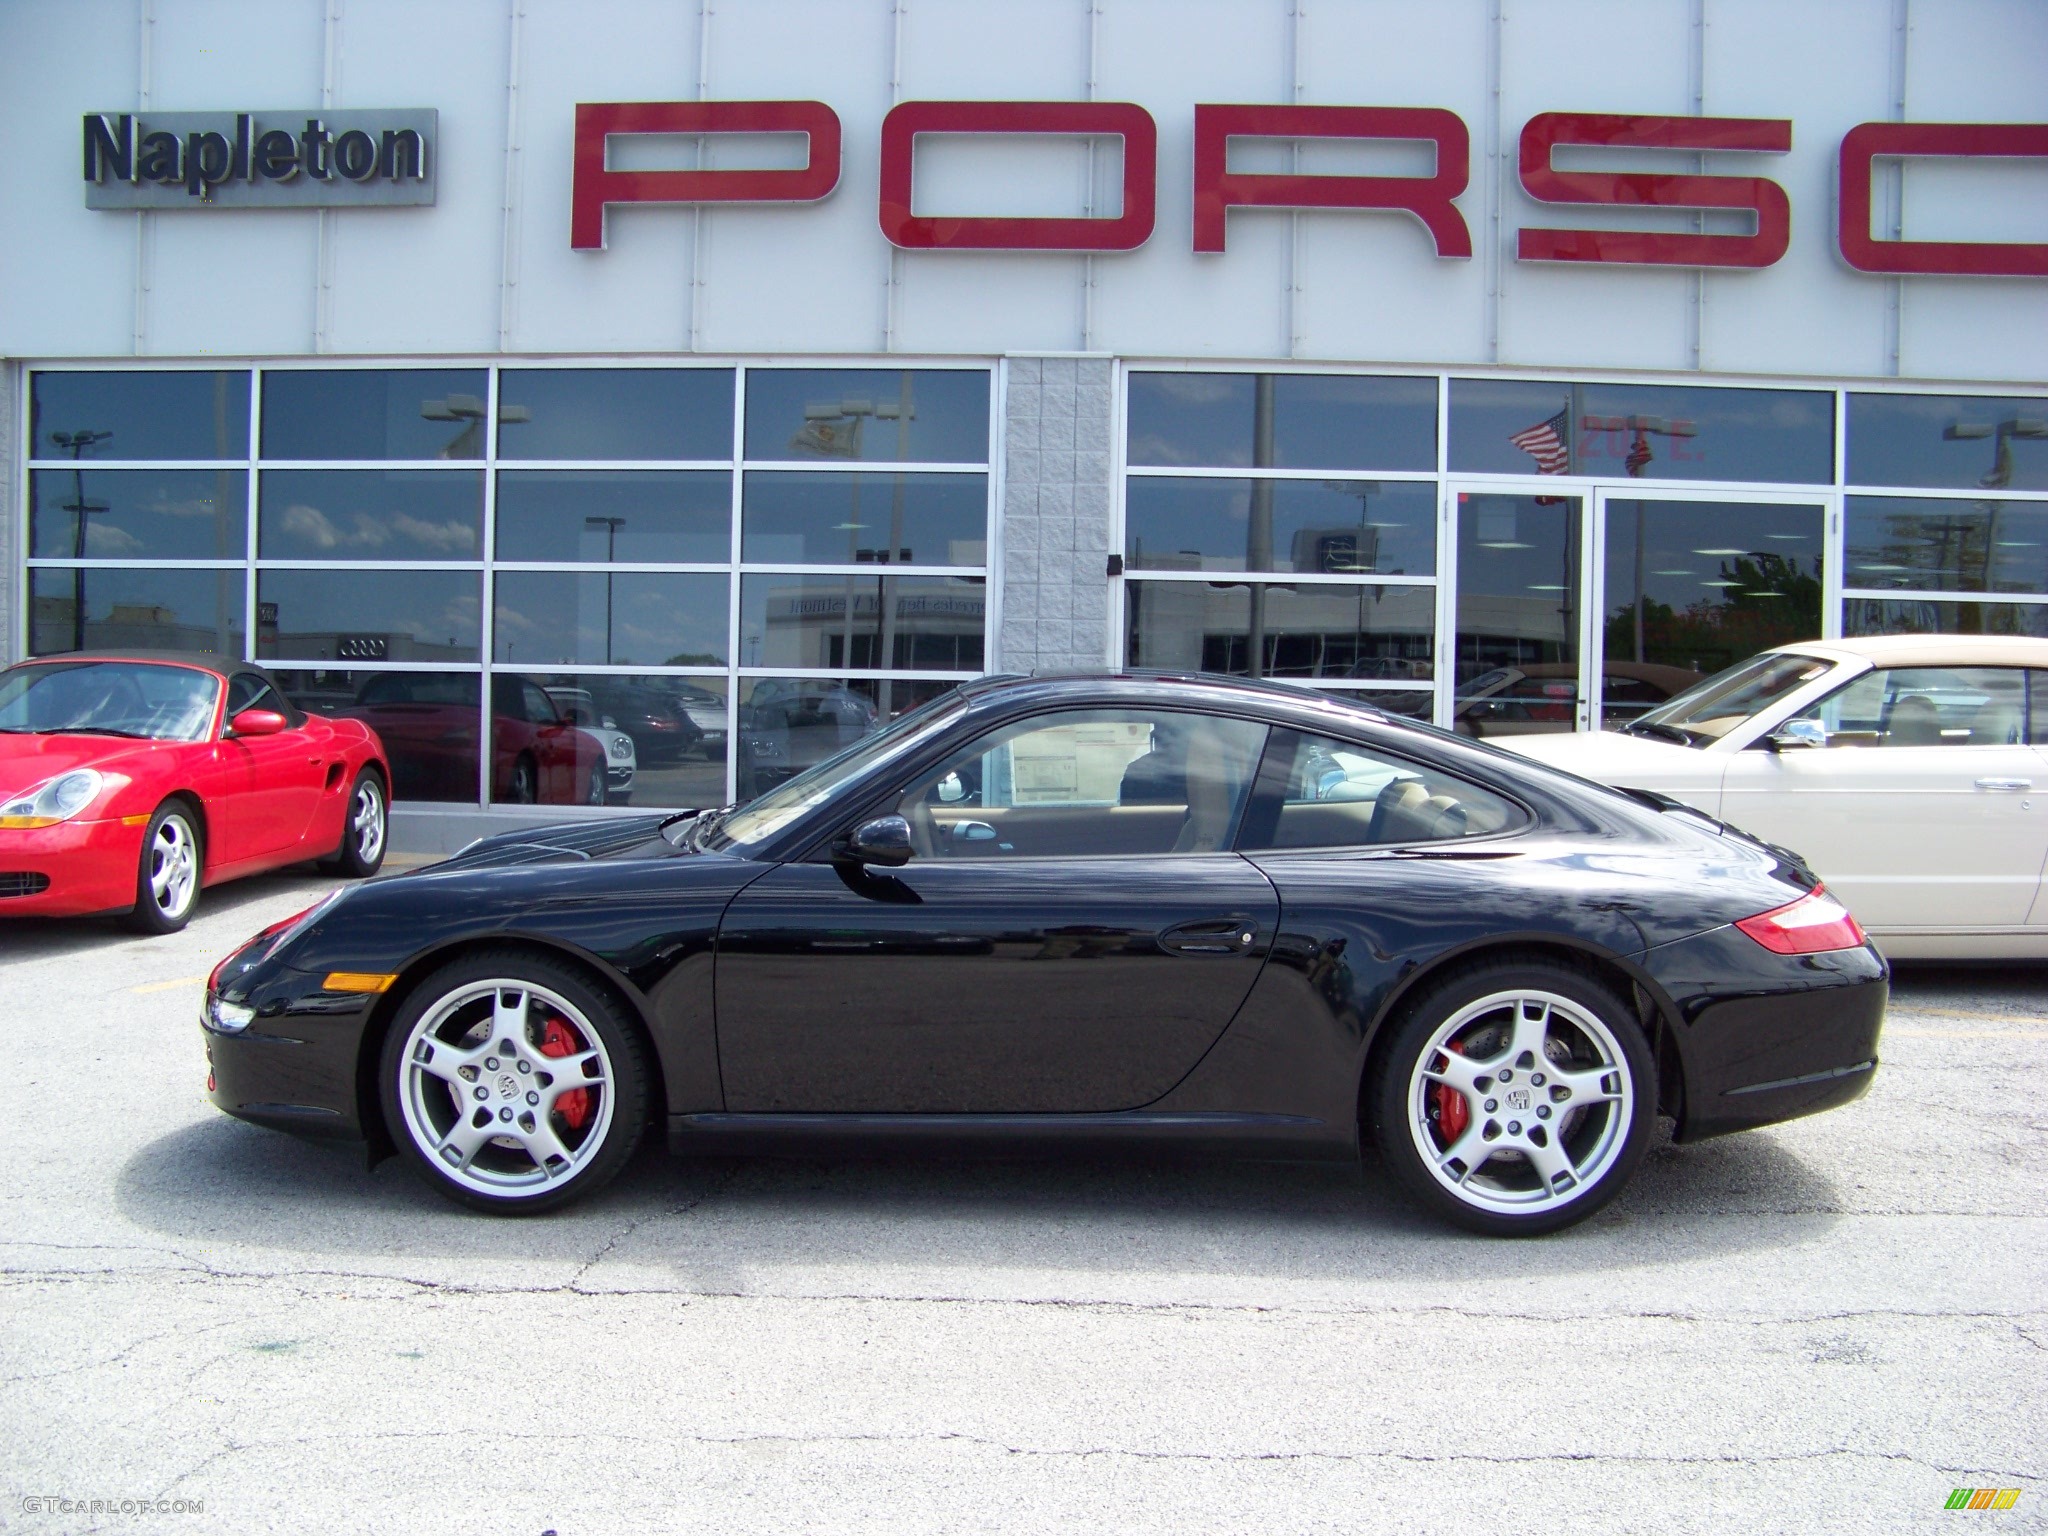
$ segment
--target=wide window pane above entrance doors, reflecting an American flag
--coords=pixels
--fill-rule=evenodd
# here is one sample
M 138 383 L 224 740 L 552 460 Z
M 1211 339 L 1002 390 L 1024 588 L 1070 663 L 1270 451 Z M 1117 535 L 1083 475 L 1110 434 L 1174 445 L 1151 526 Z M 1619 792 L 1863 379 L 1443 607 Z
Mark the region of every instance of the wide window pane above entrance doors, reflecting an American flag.
M 1825 485 L 1833 406 L 1821 389 L 1452 379 L 1450 467 Z

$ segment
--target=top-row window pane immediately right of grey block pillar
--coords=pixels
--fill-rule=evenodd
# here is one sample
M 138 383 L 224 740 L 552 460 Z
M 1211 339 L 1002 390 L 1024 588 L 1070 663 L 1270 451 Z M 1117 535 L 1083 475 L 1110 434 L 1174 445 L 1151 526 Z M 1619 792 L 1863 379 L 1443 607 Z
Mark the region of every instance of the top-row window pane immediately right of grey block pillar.
M 1133 373 L 1126 461 L 1436 469 L 1436 379 Z

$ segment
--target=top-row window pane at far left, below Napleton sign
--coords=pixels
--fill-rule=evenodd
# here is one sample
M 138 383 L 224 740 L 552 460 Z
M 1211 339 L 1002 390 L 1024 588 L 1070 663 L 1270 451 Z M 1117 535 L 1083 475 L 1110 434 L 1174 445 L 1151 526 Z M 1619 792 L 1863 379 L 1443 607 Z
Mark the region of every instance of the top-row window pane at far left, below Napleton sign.
M 233 373 L 37 373 L 37 459 L 248 459 L 250 377 Z

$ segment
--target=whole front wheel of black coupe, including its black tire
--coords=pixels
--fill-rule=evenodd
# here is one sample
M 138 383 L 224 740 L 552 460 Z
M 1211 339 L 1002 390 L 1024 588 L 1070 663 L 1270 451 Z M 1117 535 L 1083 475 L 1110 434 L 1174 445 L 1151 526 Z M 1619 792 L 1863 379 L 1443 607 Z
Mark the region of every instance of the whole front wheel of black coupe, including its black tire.
M 514 995 L 524 1004 L 506 1010 Z M 600 1059 L 598 1077 L 563 1083 L 549 1071 L 551 1020 L 569 1030 L 580 1061 Z M 539 950 L 483 950 L 414 987 L 385 1034 L 377 1087 L 391 1141 L 420 1178 L 492 1214 L 592 1194 L 647 1126 L 637 1026 L 588 973 Z M 571 1104 L 573 1094 L 586 1098 Z

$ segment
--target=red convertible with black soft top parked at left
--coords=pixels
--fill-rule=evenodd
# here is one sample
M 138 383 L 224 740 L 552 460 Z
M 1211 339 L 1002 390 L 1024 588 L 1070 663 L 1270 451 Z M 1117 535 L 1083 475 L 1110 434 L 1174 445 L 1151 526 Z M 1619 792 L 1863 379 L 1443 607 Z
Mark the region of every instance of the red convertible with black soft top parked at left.
M 0 672 L 0 915 L 127 911 L 147 934 L 199 891 L 317 858 L 383 864 L 391 768 L 360 721 L 260 668 L 150 651 Z

